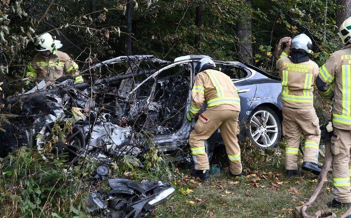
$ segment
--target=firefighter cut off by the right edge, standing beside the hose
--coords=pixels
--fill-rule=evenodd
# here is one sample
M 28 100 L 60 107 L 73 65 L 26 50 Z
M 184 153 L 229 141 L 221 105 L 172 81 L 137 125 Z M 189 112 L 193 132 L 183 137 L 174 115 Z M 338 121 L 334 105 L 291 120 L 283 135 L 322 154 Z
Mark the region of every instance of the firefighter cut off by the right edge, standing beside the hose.
M 333 53 L 319 68 L 316 86 L 326 98 L 334 98 L 333 154 L 334 199 L 331 207 L 350 206 L 351 148 L 351 17 L 339 28 L 345 48 Z

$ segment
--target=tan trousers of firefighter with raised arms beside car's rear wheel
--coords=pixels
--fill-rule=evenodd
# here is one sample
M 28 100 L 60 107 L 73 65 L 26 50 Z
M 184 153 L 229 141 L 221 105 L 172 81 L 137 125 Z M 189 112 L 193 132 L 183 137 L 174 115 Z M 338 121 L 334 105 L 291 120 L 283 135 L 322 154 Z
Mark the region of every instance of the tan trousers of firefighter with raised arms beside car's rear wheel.
M 298 168 L 301 134 L 305 138 L 303 162 L 318 163 L 320 129 L 314 108 L 283 107 L 283 135 L 286 137 L 285 168 Z

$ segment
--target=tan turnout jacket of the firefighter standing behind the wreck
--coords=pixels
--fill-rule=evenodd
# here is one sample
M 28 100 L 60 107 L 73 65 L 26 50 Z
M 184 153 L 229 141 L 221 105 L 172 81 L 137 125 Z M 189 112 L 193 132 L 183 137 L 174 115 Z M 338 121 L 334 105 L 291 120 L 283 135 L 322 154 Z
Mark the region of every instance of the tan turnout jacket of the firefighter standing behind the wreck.
M 44 57 L 40 53 L 36 54 L 27 69 L 27 77 L 40 77 L 48 85 L 53 84 L 56 79 L 65 74 L 71 74 L 75 78 L 75 83 L 83 82 L 83 77 L 78 72 L 78 64 L 68 54 L 60 51 L 49 57 Z

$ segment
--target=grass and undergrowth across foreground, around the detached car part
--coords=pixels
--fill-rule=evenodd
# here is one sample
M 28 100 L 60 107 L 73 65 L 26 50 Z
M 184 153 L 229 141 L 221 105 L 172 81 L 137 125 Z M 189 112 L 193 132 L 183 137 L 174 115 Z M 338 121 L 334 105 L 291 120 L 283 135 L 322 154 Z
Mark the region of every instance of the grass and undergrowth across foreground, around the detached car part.
M 178 170 L 152 150 L 143 158 L 144 169 L 132 157 L 125 157 L 110 167 L 110 178 L 142 181 L 162 180 L 176 189 L 173 197 L 156 207 L 154 218 L 283 218 L 292 217 L 295 207 L 306 202 L 313 192 L 316 176 L 308 172 L 293 178 L 285 176 L 284 143 L 278 148 L 261 151 L 255 147 L 242 150 L 244 176 L 232 177 L 223 148 L 213 159 L 221 173 L 211 175 L 210 182 L 194 180 L 190 170 Z M 301 163 L 301 157 L 299 157 Z M 36 152 L 21 149 L 0 162 L 0 217 L 100 218 L 103 214 L 84 212 L 84 198 L 91 190 L 108 187 L 107 183 L 90 182 L 97 163 L 85 164 L 83 171 L 57 161 L 41 160 Z M 332 182 L 328 181 L 316 204 L 308 211 L 328 210 L 332 200 Z M 337 215 L 345 210 L 332 209 Z

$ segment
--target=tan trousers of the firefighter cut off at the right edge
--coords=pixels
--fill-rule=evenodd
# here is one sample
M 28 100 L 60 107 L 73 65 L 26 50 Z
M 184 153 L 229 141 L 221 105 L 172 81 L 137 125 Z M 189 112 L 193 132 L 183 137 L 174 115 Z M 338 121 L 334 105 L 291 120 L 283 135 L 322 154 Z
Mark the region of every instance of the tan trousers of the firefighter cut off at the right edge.
M 351 202 L 351 130 L 343 130 L 333 127 L 331 138 L 331 152 L 333 154 L 333 185 L 334 199 L 343 202 Z

